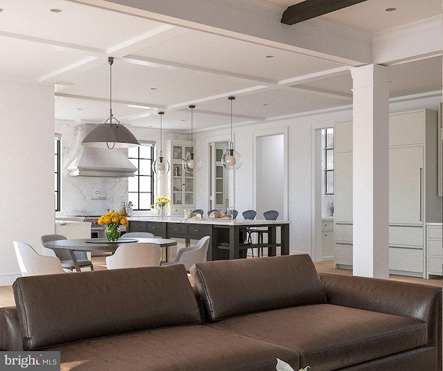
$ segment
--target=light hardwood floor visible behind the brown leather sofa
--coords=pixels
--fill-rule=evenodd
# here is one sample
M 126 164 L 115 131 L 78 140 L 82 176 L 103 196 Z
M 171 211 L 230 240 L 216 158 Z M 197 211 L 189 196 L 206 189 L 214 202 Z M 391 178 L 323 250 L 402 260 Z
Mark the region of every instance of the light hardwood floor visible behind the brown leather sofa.
M 93 257 L 94 270 L 100 271 L 106 269 L 105 257 Z M 334 262 L 316 262 L 314 263 L 318 272 L 321 273 L 338 273 L 344 275 L 352 275 L 352 271 L 348 269 L 334 269 Z M 431 284 L 433 286 L 442 286 L 442 278 L 432 278 L 425 280 L 424 278 L 408 277 L 405 275 L 390 275 L 390 280 L 413 282 L 419 284 Z M 0 287 L 0 307 L 8 307 L 9 305 L 15 305 L 14 295 L 12 293 L 12 286 Z

